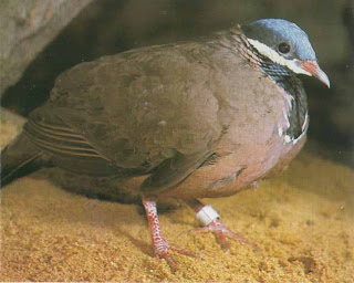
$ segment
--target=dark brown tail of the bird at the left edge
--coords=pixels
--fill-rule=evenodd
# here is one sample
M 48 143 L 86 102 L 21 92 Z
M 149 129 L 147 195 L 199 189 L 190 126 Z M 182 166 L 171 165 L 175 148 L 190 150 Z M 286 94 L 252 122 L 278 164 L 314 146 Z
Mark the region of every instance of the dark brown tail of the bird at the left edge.
M 1 184 L 3 188 L 13 180 L 27 176 L 46 165 L 45 155 L 25 134 L 1 151 Z

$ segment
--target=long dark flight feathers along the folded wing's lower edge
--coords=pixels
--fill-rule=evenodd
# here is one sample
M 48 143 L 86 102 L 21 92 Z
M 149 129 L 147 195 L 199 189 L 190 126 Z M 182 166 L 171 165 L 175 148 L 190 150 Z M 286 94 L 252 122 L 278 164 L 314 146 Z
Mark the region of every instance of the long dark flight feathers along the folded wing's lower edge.
M 55 157 L 54 160 L 56 160 L 58 166 L 97 176 L 117 175 L 127 177 L 149 174 L 150 176 L 142 186 L 143 191 L 158 191 L 174 187 L 187 178 L 211 154 L 209 151 L 181 155 L 174 151 L 170 154 L 170 158 L 165 158 L 157 165 L 146 159 L 139 168 L 122 168 L 100 153 L 75 129 L 59 124 L 60 120 L 53 123 L 53 117 L 46 120 L 43 119 L 43 116 L 39 118 L 39 114 L 43 115 L 43 113 L 46 113 L 46 118 L 49 118 L 48 109 L 45 107 L 39 108 L 31 115 L 24 130 L 37 146 Z M 65 159 L 69 160 L 69 164 L 65 164 Z

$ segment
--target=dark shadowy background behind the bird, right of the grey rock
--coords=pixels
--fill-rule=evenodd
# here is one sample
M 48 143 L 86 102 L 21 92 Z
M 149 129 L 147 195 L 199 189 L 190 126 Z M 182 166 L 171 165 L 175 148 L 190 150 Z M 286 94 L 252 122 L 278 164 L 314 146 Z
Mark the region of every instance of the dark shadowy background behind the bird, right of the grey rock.
M 1 105 L 27 116 L 48 99 L 55 77 L 80 62 L 283 18 L 306 31 L 332 83 L 327 90 L 303 77 L 311 116 L 306 149 L 354 166 L 353 13 L 353 0 L 98 0 L 42 51 Z

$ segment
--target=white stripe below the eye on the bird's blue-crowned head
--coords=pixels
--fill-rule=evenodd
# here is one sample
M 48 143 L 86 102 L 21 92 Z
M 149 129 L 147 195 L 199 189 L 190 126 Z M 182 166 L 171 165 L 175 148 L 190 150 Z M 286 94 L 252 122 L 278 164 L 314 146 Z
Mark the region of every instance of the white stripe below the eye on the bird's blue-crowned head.
M 254 49 L 258 50 L 259 53 L 269 57 L 274 63 L 283 66 L 288 66 L 291 71 L 293 71 L 296 74 L 304 74 L 304 75 L 312 76 L 311 73 L 298 66 L 295 59 L 294 60 L 284 59 L 281 55 L 279 55 L 274 50 L 259 42 L 258 40 L 252 40 L 252 39 L 247 39 L 247 40 L 249 41 L 249 43 L 252 44 Z

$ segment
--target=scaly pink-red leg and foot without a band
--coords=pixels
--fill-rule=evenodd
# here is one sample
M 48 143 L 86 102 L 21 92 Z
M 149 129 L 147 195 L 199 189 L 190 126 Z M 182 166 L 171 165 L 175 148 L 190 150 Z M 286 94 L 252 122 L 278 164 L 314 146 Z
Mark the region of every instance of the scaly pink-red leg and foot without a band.
M 196 256 L 197 254 L 192 253 L 192 252 L 183 251 L 183 250 L 179 250 L 173 245 L 169 245 L 168 242 L 165 240 L 163 232 L 159 228 L 156 200 L 143 197 L 142 201 L 143 201 L 143 206 L 146 211 L 148 226 L 149 226 L 150 232 L 152 232 L 153 248 L 154 248 L 155 256 L 157 256 L 159 259 L 165 259 L 167 261 L 167 263 L 169 264 L 169 266 L 174 271 L 176 271 L 177 264 L 176 264 L 174 258 L 169 254 L 169 251 L 175 251 L 180 254 L 190 255 L 190 256 Z

